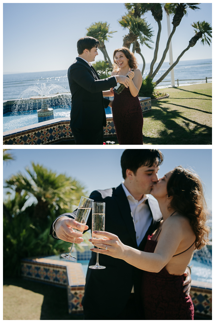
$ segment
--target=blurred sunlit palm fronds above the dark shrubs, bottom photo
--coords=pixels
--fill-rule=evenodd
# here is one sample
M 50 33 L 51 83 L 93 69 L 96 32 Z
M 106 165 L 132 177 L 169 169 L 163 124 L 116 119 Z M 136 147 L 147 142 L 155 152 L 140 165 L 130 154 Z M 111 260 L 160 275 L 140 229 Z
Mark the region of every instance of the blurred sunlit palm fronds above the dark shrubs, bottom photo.
M 27 178 L 21 172 L 12 175 L 6 180 L 6 188 L 10 188 L 18 194 L 26 194 L 35 198 L 34 218 L 43 224 L 47 216 L 55 218 L 56 213 L 62 213 L 75 209 L 80 197 L 84 194 L 84 186 L 78 181 L 67 177 L 65 174 L 57 175 L 42 165 L 32 162 L 32 170 L 25 168 Z

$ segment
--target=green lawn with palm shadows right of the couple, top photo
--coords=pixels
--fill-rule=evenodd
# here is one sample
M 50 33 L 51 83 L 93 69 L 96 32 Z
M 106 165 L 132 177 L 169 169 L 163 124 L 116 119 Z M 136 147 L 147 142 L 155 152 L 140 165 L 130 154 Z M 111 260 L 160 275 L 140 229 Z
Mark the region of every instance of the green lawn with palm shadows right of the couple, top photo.
M 163 89 L 168 99 L 152 101 L 144 114 L 146 145 L 211 145 L 212 84 Z

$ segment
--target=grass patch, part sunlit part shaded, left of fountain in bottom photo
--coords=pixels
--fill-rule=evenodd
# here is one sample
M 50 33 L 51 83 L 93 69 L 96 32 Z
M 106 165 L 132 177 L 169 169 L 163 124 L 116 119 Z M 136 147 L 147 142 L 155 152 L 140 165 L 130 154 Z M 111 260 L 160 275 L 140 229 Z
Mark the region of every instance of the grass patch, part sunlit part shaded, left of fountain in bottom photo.
M 68 313 L 66 288 L 23 278 L 3 281 L 3 320 L 80 320 Z

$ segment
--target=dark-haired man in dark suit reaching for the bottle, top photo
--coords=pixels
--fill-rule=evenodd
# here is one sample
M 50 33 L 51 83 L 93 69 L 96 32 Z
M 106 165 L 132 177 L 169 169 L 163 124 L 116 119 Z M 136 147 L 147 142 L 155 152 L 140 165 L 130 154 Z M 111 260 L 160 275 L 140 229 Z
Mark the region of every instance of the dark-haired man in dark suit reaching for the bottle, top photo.
M 103 145 L 103 127 L 106 127 L 110 100 L 102 91 L 115 87 L 117 82 L 129 86 L 130 79 L 112 76 L 100 80 L 91 62 L 98 55 L 100 43 L 93 37 L 83 37 L 77 42 L 78 57 L 68 69 L 69 88 L 72 94 L 70 127 L 76 145 Z

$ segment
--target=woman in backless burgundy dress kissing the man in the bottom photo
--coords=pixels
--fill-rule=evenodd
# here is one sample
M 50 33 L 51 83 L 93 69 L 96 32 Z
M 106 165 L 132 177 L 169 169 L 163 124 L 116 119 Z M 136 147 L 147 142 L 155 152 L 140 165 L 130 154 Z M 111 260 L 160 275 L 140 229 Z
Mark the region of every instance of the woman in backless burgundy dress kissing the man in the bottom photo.
M 102 231 L 99 235 L 104 238 L 92 242 L 105 250 L 93 251 L 123 259 L 143 270 L 145 319 L 193 320 L 192 300 L 183 293 L 182 284 L 194 249 L 207 243 L 202 185 L 196 174 L 179 166 L 155 183 L 151 194 L 159 203 L 163 220 L 160 228 L 148 236 L 144 251 L 123 245 L 116 235 Z

